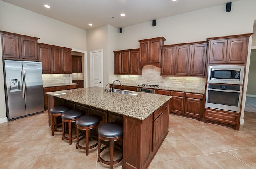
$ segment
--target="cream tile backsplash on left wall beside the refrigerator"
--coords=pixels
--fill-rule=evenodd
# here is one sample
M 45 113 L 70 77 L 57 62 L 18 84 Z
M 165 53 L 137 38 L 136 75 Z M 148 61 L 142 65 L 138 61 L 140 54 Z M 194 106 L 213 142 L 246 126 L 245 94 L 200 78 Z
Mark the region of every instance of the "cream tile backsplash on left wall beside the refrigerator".
M 43 85 L 71 83 L 72 74 L 43 74 Z

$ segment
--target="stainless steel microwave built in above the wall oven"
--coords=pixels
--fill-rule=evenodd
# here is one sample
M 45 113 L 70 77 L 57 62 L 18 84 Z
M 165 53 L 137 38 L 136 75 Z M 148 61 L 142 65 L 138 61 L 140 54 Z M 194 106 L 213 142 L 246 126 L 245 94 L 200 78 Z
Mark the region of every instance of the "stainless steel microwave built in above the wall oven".
M 218 65 L 209 66 L 208 83 L 238 84 L 244 81 L 244 66 Z

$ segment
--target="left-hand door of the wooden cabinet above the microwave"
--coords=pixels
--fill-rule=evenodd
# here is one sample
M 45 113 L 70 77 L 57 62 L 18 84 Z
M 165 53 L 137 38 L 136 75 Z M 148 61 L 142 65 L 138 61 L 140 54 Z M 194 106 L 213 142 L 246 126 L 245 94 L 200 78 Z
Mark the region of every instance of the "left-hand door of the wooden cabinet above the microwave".
M 225 64 L 227 52 L 227 40 L 209 41 L 209 63 L 210 64 Z

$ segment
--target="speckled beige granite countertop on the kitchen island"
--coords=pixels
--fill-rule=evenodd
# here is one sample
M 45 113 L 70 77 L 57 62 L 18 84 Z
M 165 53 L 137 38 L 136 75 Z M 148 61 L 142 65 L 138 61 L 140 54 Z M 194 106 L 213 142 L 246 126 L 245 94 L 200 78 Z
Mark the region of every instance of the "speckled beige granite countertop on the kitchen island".
M 101 87 L 77 88 L 46 94 L 140 120 L 147 118 L 172 98 L 171 96 L 143 92 L 132 92 L 131 94 L 105 92 Z

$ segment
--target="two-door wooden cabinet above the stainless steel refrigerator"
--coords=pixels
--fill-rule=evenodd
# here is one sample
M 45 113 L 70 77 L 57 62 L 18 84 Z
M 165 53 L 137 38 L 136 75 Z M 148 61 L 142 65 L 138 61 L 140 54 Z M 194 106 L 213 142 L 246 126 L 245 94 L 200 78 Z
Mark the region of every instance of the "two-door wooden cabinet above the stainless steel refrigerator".
M 39 61 L 37 37 L 1 31 L 3 59 Z

